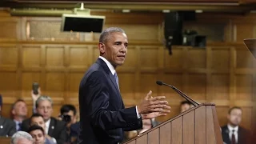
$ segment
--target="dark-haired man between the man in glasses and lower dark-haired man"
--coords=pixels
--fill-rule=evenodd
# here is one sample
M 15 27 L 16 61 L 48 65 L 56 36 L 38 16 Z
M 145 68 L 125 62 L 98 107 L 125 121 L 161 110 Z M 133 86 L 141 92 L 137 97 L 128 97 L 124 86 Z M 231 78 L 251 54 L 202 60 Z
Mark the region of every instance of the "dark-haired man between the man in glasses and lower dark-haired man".
M 44 130 L 44 136 L 46 137 L 47 142 L 50 143 L 54 143 L 54 140 L 48 135 L 46 134 L 46 122 L 44 122 L 43 117 L 41 114 L 33 114 L 30 117 L 30 126 L 41 126 L 42 129 Z

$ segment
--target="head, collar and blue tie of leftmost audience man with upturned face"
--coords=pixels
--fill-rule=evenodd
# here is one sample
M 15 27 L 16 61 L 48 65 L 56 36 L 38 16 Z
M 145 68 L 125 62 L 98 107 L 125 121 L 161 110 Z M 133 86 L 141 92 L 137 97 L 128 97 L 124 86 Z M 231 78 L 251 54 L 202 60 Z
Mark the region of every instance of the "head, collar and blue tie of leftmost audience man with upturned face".
M 22 99 L 18 99 L 14 102 L 11 109 L 11 118 L 16 123 L 16 130 L 22 130 L 22 121 L 26 118 L 27 107 L 26 102 Z

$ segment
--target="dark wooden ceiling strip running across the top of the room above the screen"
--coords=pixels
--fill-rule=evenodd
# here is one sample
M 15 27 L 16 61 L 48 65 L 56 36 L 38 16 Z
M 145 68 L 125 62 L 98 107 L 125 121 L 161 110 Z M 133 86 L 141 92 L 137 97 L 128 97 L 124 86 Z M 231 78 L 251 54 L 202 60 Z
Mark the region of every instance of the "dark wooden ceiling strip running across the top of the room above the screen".
M 6 0 L 4 7 L 12 9 L 72 10 L 83 2 L 91 10 L 203 10 L 204 12 L 248 13 L 256 10 L 256 0 Z

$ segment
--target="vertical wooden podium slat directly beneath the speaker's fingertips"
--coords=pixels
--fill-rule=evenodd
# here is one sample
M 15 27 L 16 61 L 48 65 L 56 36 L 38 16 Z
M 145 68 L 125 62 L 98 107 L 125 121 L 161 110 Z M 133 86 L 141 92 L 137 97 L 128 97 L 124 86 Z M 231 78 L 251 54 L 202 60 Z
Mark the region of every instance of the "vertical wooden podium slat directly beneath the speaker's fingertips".
M 166 123 L 160 127 L 160 143 L 161 144 L 172 144 L 171 143 L 171 122 Z

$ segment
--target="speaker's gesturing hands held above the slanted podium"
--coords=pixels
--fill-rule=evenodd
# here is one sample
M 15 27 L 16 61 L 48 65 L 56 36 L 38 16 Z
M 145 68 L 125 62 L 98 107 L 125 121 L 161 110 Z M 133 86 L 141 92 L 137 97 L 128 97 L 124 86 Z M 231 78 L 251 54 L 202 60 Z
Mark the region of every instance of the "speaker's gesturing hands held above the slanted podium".
M 152 91 L 146 94 L 146 97 L 142 100 L 141 104 L 137 106 L 138 114 L 150 114 L 156 117 L 160 115 L 166 115 L 170 113 L 170 106 L 167 106 L 168 102 L 164 100 L 165 96 L 151 97 Z M 167 110 L 166 110 L 167 109 Z M 155 118 L 155 117 L 154 117 Z

